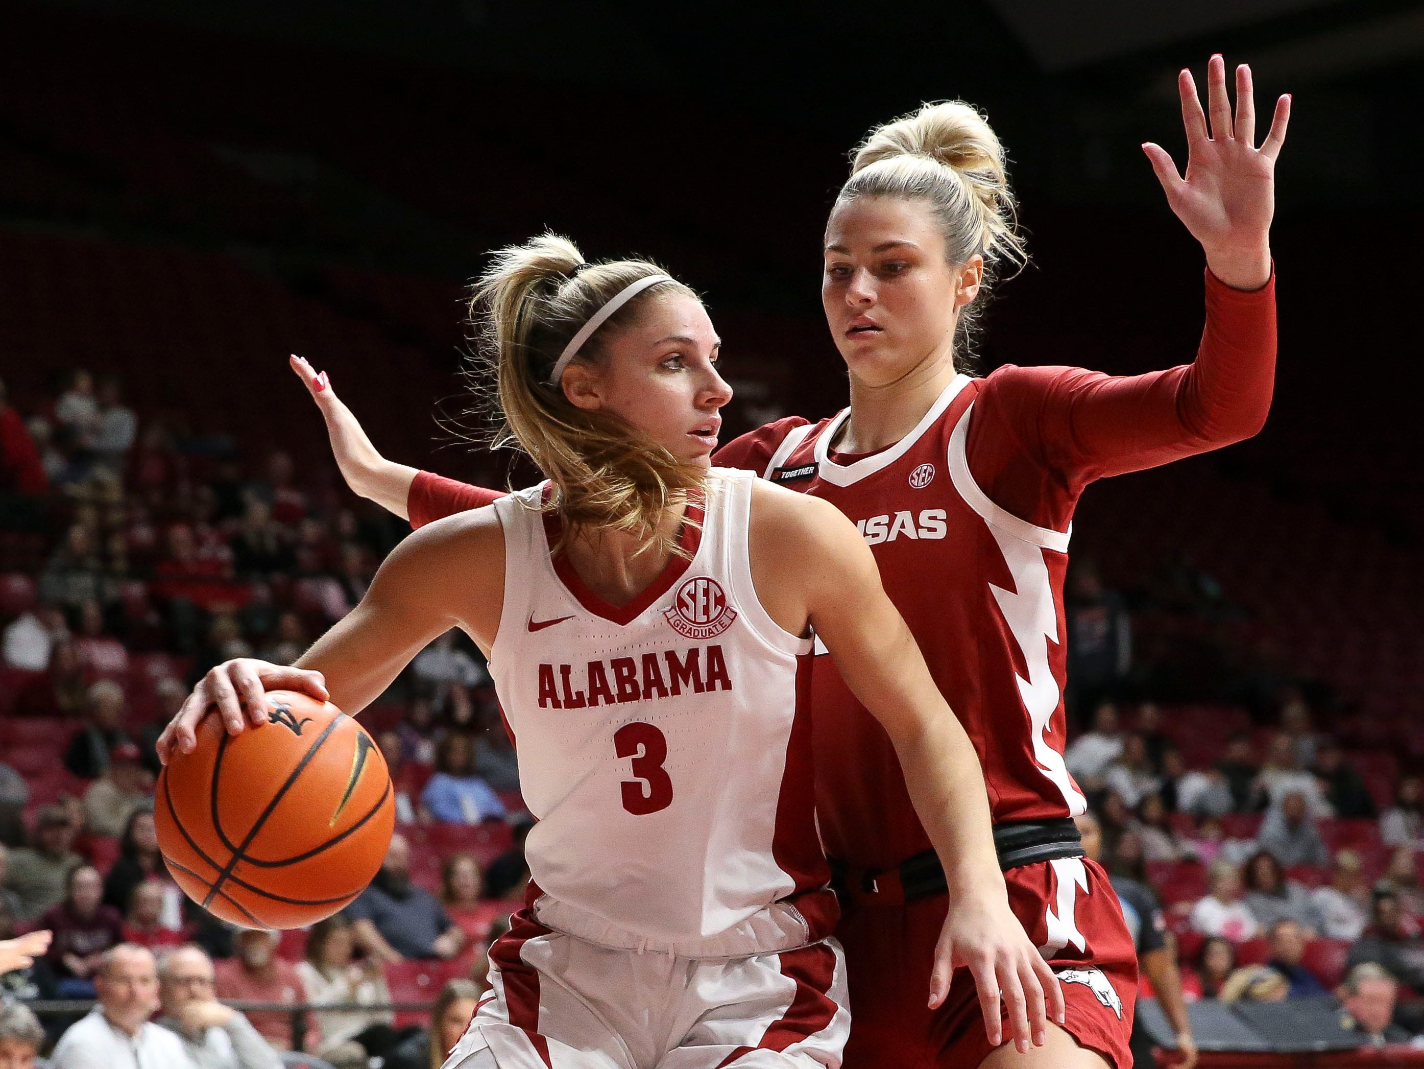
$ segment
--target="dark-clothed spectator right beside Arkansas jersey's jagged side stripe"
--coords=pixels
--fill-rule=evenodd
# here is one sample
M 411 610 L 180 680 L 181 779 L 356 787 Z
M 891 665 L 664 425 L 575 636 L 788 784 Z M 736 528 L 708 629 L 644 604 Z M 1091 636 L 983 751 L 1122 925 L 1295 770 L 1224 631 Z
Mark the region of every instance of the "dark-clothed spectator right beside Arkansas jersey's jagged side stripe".
M 1072 562 L 1064 593 L 1071 707 L 1077 716 L 1118 693 L 1132 670 L 1132 617 L 1122 596 L 1108 590 L 1098 566 Z

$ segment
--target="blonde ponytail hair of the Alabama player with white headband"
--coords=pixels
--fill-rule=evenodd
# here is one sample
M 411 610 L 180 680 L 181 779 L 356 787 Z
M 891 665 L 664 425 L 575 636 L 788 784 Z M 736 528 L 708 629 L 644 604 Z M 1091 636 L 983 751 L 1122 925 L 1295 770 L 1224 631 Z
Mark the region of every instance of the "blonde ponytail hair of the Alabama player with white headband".
M 679 552 L 672 534 L 659 533 L 659 520 L 702 486 L 701 469 L 627 420 L 578 408 L 550 382 L 578 329 L 628 285 L 655 274 L 665 272 L 641 259 L 588 264 L 568 238 L 544 234 L 496 252 L 473 286 L 470 378 L 494 409 L 491 445 L 523 449 L 554 485 L 544 507 L 564 522 L 561 544 L 582 529 L 611 527 L 638 536 L 644 549 Z M 671 292 L 696 296 L 671 279 L 648 286 L 584 342 L 575 361 L 600 362 L 609 335 Z

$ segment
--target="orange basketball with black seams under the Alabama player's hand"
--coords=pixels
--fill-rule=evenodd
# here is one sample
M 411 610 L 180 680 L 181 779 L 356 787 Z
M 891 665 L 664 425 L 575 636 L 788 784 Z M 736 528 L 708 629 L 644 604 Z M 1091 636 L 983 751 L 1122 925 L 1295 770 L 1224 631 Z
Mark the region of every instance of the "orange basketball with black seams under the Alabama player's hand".
M 300 928 L 366 889 L 396 801 L 380 750 L 336 706 L 273 690 L 268 710 L 236 737 L 204 717 L 158 775 L 154 822 L 195 902 L 242 928 Z

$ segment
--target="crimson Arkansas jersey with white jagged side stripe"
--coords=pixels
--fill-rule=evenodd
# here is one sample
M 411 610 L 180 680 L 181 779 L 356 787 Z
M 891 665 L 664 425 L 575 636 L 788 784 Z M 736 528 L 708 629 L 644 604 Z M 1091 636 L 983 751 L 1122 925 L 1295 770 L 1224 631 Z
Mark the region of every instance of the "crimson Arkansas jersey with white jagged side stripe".
M 914 430 L 877 453 L 832 450 L 847 409 L 820 423 L 762 428 L 718 462 L 755 463 L 856 523 L 978 751 L 994 821 L 1071 817 L 1087 802 L 1064 765 L 1068 532 L 1010 515 L 970 475 L 965 440 L 985 382 L 957 375 Z M 812 690 L 826 851 L 876 869 L 930 849 L 890 737 L 829 656 L 816 659 Z

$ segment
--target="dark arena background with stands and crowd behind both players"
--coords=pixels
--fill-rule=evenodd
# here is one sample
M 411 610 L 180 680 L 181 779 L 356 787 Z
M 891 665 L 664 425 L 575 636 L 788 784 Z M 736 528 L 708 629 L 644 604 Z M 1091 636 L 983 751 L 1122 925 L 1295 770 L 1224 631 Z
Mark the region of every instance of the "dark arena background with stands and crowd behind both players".
M 819 245 L 847 150 L 963 98 L 1008 148 L 1031 252 L 981 371 L 1183 363 L 1202 254 L 1138 145 L 1185 162 L 1175 74 L 1205 84 L 1216 51 L 1252 64 L 1263 115 L 1294 98 L 1274 401 L 1252 440 L 1084 495 L 1069 768 L 1105 865 L 1161 899 L 1200 1065 L 1424 1065 L 1424 6 L 1388 0 L 7 4 L 0 938 L 83 939 L 7 974 L 0 1022 L 30 1003 L 44 1053 L 93 998 L 81 958 L 125 935 L 201 944 L 289 1065 L 366 1065 L 350 1036 L 373 1025 L 403 1040 L 387 1066 L 436 1065 L 431 1003 L 466 999 L 457 1033 L 484 988 L 528 815 L 463 637 L 362 716 L 457 949 L 367 954 L 357 985 L 329 968 L 337 925 L 273 936 L 268 962 L 155 868 L 140 795 L 177 704 L 229 657 L 293 660 L 409 533 L 346 489 L 289 353 L 390 459 L 525 485 L 461 440 L 461 295 L 488 249 L 551 228 L 705 294 L 736 388 L 723 440 L 830 415 Z M 439 820 L 437 765 L 494 801 Z M 1273 867 L 1282 783 L 1310 805 Z M 1360 992 L 1393 999 L 1388 1028 L 1360 1023 Z M 1146 1046 L 1172 1063 L 1151 996 Z

